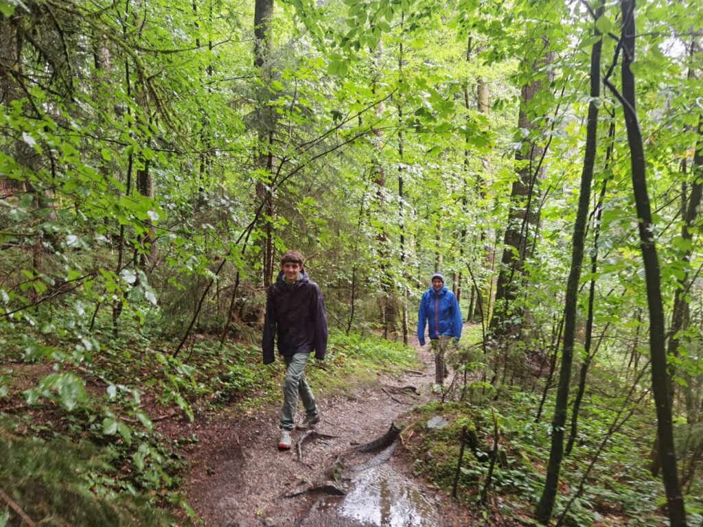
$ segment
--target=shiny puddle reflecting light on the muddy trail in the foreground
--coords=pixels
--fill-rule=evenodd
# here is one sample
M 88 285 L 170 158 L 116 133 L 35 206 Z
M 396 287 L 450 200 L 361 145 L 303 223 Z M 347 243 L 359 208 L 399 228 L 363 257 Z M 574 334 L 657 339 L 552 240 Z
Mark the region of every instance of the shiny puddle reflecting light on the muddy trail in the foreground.
M 397 471 L 383 465 L 354 477 L 347 496 L 325 497 L 311 509 L 306 526 L 436 526 L 434 505 Z

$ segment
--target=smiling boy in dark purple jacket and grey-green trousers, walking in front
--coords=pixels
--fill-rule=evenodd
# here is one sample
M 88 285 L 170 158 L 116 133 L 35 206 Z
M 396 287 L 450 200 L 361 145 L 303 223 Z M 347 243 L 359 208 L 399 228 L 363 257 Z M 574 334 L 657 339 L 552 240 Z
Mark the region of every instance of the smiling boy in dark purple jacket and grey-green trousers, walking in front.
M 278 341 L 278 353 L 283 356 L 287 370 L 283 381 L 283 408 L 280 412 L 278 448 L 288 450 L 290 432 L 295 427 L 304 430 L 320 420 L 315 397 L 305 380 L 305 365 L 310 353 L 317 360 L 325 358 L 327 349 L 327 317 L 320 288 L 311 282 L 303 269 L 303 256 L 288 251 L 280 258 L 280 273 L 269 287 L 264 318 L 262 350 L 264 364 L 271 364 L 273 337 Z M 302 399 L 306 417 L 295 424 L 298 396 Z

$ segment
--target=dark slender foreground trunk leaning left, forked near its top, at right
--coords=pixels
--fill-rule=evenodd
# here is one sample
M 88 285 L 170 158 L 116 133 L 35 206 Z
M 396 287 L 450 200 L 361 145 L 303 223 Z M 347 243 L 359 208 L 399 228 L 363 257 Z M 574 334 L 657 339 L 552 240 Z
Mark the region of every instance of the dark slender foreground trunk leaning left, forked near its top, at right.
M 645 267 L 647 284 L 647 306 L 650 314 L 650 354 L 652 358 L 652 391 L 657 408 L 657 437 L 659 438 L 659 457 L 662 462 L 662 478 L 666 490 L 669 521 L 672 527 L 686 524 L 683 495 L 678 481 L 676 453 L 673 445 L 673 424 L 671 422 L 671 401 L 669 399 L 669 372 L 666 366 L 666 349 L 664 347 L 664 306 L 662 304 L 661 275 L 659 274 L 659 256 L 652 233 L 650 198 L 647 192 L 647 175 L 645 152 L 636 110 L 635 76 L 630 65 L 635 60 L 635 2 L 622 0 L 622 36 L 621 47 L 623 60 L 621 65 L 622 94 L 610 83 L 606 86 L 620 100 L 627 126 L 627 140 L 631 154 L 632 187 L 635 195 L 637 217 L 639 219 L 640 249 Z

